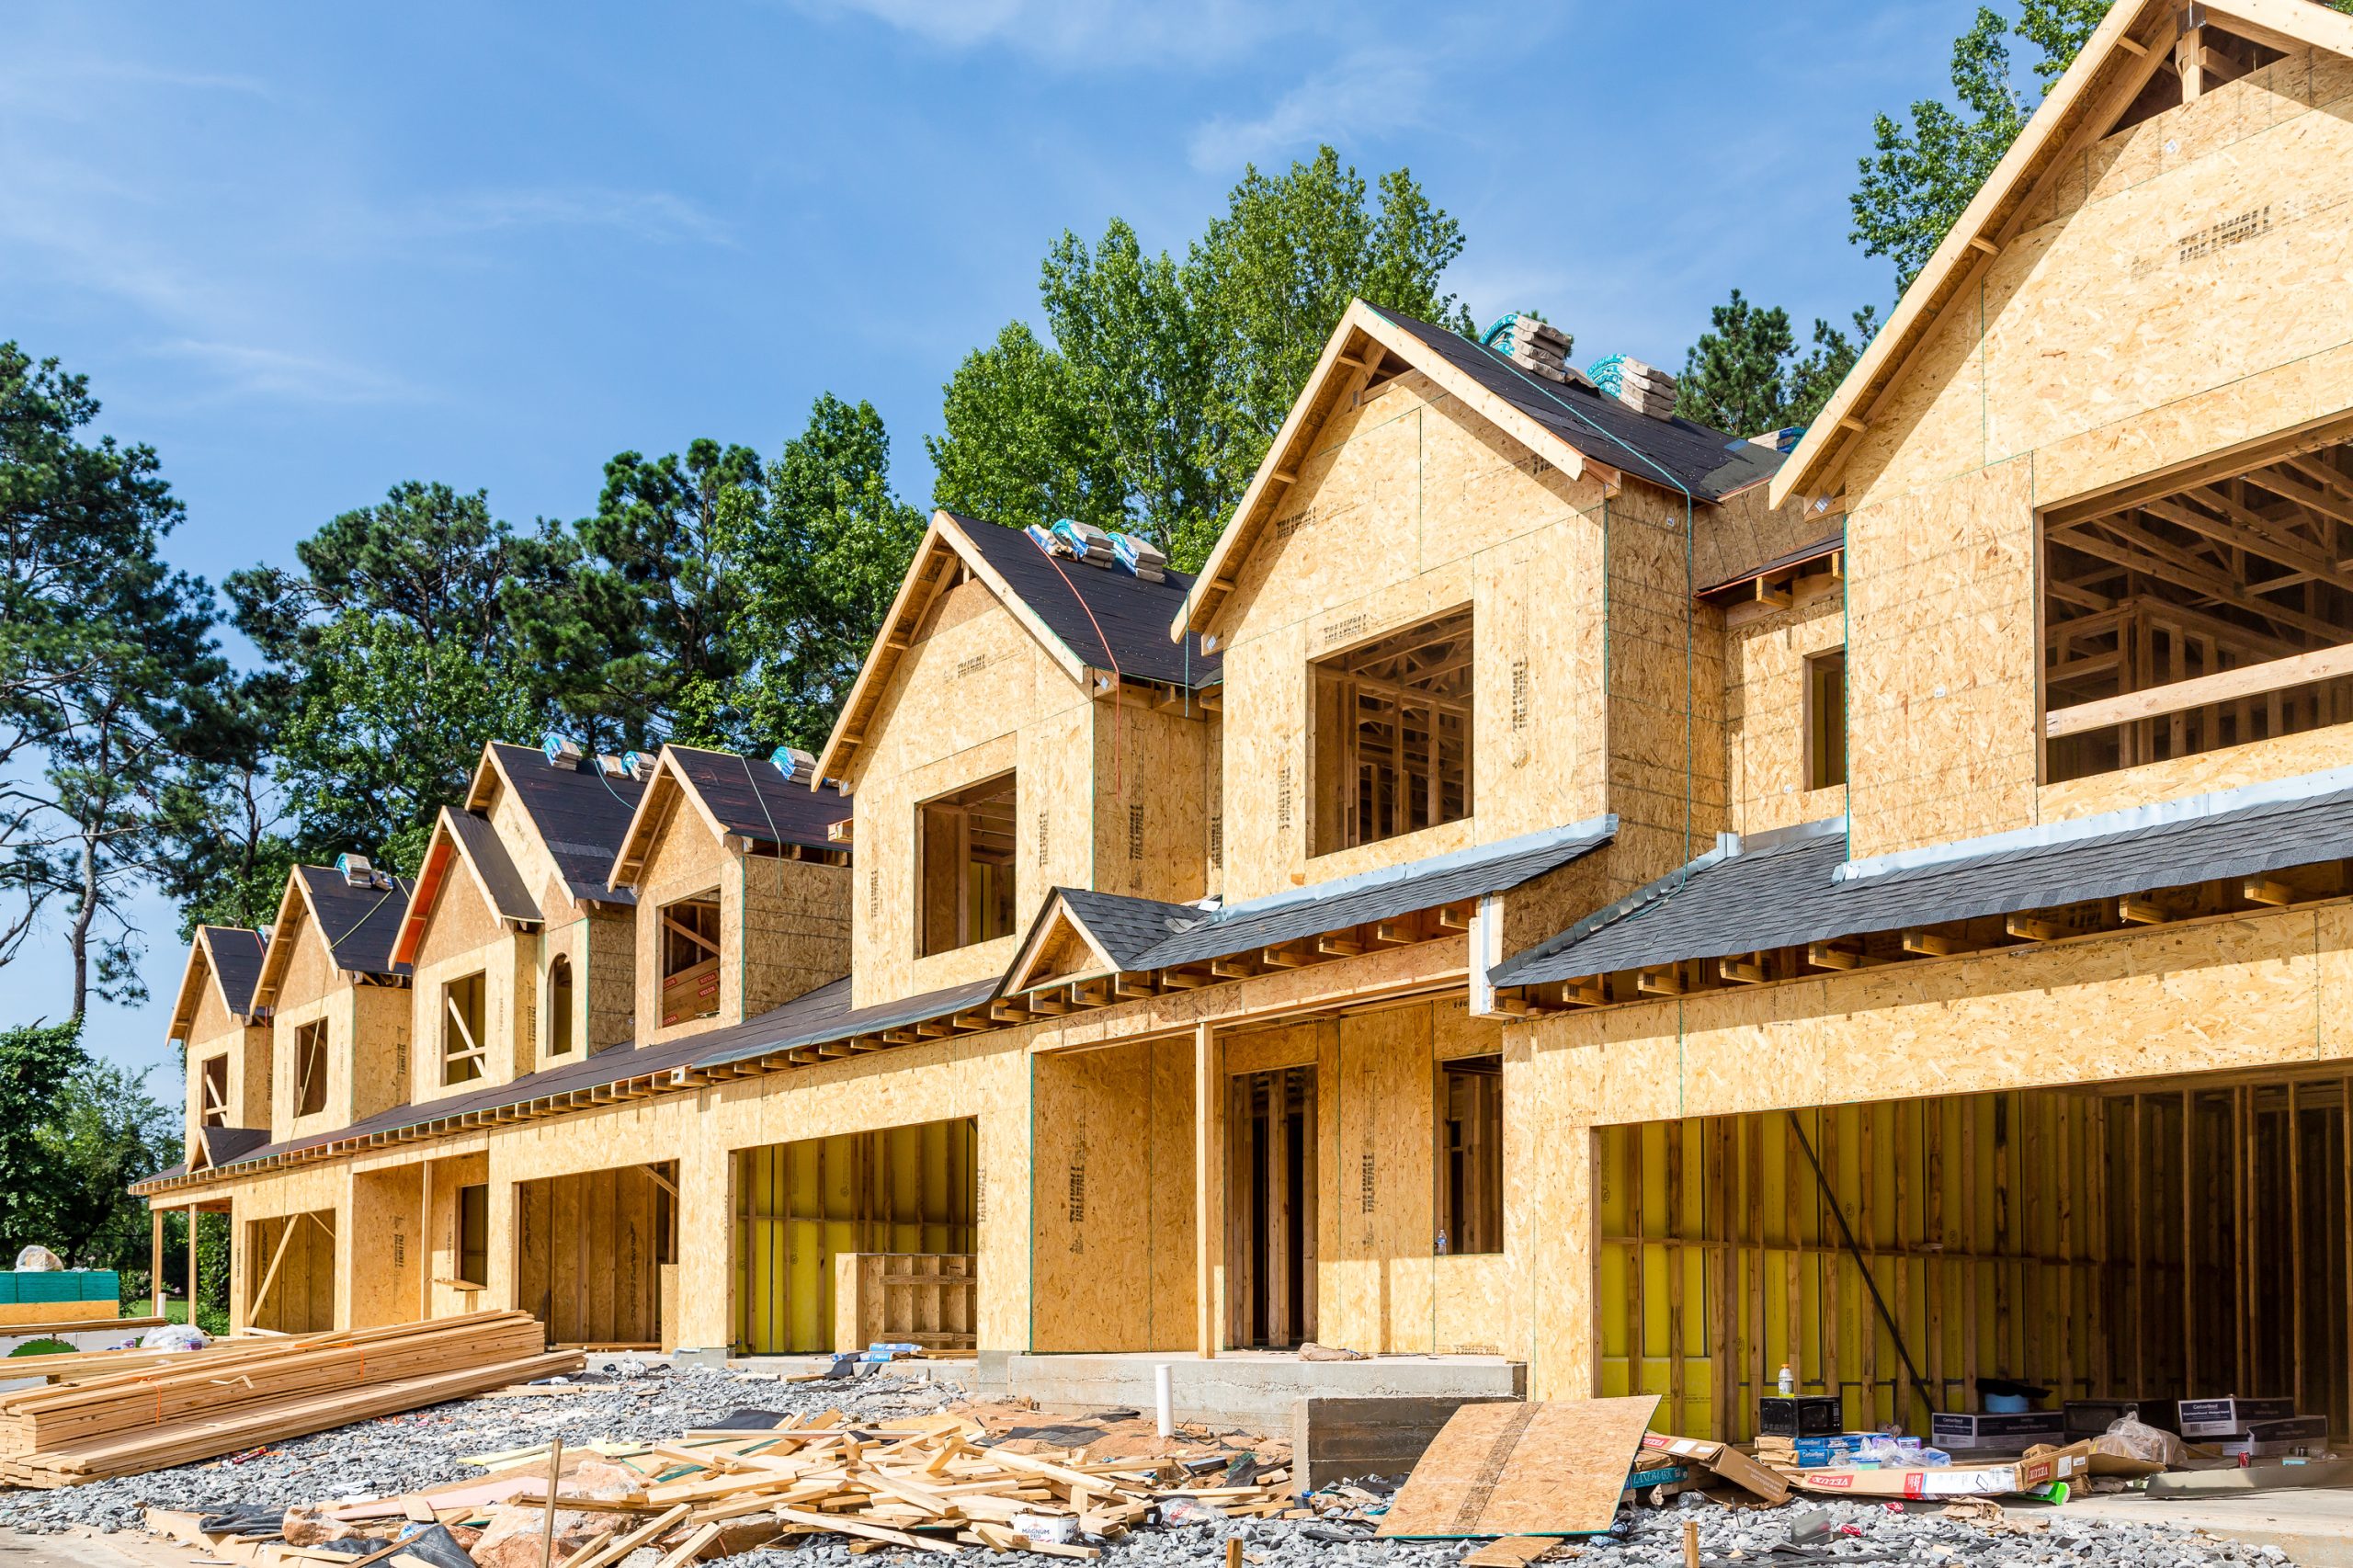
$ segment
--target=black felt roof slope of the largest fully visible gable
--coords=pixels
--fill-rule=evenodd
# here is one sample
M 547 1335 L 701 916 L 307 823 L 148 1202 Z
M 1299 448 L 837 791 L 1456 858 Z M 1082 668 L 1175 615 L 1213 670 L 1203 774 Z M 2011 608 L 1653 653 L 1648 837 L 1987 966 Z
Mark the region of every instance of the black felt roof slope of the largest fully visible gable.
M 1701 501 L 1718 501 L 1772 478 L 1786 461 L 1781 452 L 1741 436 L 1711 431 L 1689 419 L 1652 419 L 1593 386 L 1546 381 L 1461 332 L 1393 311 L 1381 315 L 1593 461 L 1624 469 L 1652 485 L 1682 487 Z M 1661 469 L 1671 478 L 1664 478 Z

